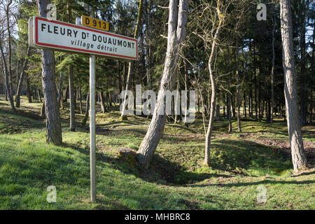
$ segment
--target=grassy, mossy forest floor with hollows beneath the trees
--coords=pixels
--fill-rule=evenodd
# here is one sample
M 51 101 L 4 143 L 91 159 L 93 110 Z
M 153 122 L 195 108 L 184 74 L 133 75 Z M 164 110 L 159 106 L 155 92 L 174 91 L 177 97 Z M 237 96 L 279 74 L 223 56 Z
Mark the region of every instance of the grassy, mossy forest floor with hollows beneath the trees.
M 62 146 L 45 144 L 41 103 L 22 97 L 18 115 L 0 97 L 0 209 L 315 209 L 315 126 L 302 129 L 311 167 L 292 176 L 286 122 L 250 118 L 228 134 L 214 124 L 211 167 L 204 167 L 202 118 L 189 127 L 167 123 L 147 170 L 120 162 L 118 148 L 137 151 L 150 119 L 119 121 L 118 108 L 97 113 L 97 202 L 90 198 L 89 128 L 69 131 L 69 104 L 62 113 Z M 99 111 L 99 108 L 98 108 Z M 48 203 L 48 186 L 57 202 Z M 267 201 L 258 203 L 258 186 Z

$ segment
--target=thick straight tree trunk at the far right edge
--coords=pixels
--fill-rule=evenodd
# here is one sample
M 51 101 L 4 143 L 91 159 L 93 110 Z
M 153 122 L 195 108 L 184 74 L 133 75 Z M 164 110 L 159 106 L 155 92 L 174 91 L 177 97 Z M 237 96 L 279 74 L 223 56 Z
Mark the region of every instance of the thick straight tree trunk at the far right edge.
M 293 49 L 293 31 L 290 0 L 280 0 L 281 38 L 284 70 L 286 117 L 292 154 L 293 169 L 298 172 L 307 167 L 302 132 L 297 108 L 297 87 Z

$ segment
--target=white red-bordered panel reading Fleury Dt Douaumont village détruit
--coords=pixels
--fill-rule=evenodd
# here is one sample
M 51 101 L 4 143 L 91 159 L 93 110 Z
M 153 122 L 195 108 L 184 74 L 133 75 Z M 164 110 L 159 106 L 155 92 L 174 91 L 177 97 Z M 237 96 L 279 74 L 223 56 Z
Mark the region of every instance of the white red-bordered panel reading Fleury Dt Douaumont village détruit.
M 135 38 L 38 16 L 33 19 L 33 41 L 36 48 L 138 59 L 138 41 Z

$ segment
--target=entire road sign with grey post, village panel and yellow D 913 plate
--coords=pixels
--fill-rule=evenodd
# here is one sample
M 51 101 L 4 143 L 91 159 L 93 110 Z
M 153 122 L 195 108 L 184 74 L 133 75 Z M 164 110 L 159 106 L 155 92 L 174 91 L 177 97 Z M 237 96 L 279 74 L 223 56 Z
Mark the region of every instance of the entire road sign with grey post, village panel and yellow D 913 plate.
M 83 25 L 93 28 L 109 29 L 93 18 L 82 16 Z M 91 20 L 90 20 L 91 19 Z M 95 22 L 94 22 L 95 21 Z M 97 24 L 95 26 L 94 24 Z M 99 26 L 99 27 L 98 27 Z M 90 26 L 89 26 L 90 27 Z M 90 55 L 90 188 L 91 201 L 96 200 L 96 153 L 95 153 L 95 55 L 113 59 L 138 59 L 138 41 L 135 38 L 90 29 L 68 22 L 34 17 L 29 19 L 29 45 L 34 48 L 61 50 Z

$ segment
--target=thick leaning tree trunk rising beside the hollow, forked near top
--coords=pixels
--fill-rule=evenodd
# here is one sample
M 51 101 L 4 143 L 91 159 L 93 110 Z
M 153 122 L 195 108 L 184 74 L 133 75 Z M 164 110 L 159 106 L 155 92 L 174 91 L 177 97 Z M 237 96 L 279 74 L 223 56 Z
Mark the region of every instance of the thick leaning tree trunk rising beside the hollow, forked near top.
M 165 120 L 165 92 L 172 90 L 174 85 L 174 70 L 179 62 L 179 48 L 186 36 L 188 0 L 170 0 L 169 1 L 169 22 L 168 22 L 168 38 L 167 53 L 165 57 L 165 66 L 158 92 L 158 99 L 155 104 L 153 118 L 148 127 L 148 132 L 141 142 L 139 151 L 137 152 L 137 160 L 139 164 L 148 168 L 158 143 L 162 137 Z

